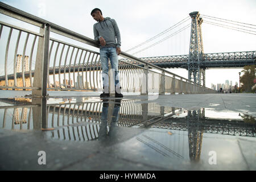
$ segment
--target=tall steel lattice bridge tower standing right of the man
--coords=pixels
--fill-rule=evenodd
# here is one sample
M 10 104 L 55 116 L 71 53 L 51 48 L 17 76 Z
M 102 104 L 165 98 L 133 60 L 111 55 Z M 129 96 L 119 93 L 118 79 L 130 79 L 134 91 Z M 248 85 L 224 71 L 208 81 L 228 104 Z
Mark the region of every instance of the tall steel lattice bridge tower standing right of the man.
M 189 15 L 192 22 L 188 56 L 188 79 L 205 86 L 205 68 L 200 68 L 204 55 L 201 31 L 203 19 L 199 18 L 200 14 L 198 11 L 189 13 Z

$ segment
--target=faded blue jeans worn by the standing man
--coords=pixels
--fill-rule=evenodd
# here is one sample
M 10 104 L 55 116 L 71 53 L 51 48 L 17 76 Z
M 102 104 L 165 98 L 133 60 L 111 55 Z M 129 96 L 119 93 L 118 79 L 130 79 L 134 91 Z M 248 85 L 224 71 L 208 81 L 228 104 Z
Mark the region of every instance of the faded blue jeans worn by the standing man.
M 117 48 L 115 47 L 102 47 L 100 49 L 101 67 L 102 67 L 102 81 L 103 86 L 109 86 L 108 74 L 109 74 L 109 59 L 112 69 L 115 72 L 115 88 L 119 86 L 119 71 L 118 71 L 118 55 Z M 106 78 L 106 80 L 105 80 Z M 105 81 L 104 81 L 105 80 Z

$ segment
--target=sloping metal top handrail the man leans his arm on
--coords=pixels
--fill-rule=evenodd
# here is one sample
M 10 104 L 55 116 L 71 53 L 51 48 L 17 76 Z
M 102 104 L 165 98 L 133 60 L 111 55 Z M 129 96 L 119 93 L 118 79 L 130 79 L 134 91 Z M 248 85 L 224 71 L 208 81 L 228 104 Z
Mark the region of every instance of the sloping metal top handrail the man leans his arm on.
M 5 11 L 7 11 L 7 13 Z M 0 13 L 8 15 L 8 16 L 11 16 L 11 17 L 19 19 L 19 20 L 22 20 L 23 22 L 33 24 L 35 26 L 39 26 L 39 24 L 41 24 L 41 26 L 48 25 L 49 27 L 51 27 L 51 31 L 52 32 L 55 32 L 57 34 L 61 34 L 63 36 L 68 35 L 69 38 L 72 38 L 72 39 L 77 40 L 77 41 L 83 40 L 84 43 L 89 44 L 90 46 L 93 46 L 93 47 L 97 47 L 97 48 L 100 47 L 99 43 L 96 42 L 93 39 L 90 39 L 90 38 L 88 38 L 88 37 L 86 37 L 84 35 L 78 34 L 78 33 L 74 32 L 74 31 L 68 30 L 67 28 L 58 26 L 57 24 L 49 22 L 49 21 L 47 21 L 45 19 L 39 18 L 38 16 L 35 16 L 35 15 L 32 15 L 32 14 L 26 13 L 26 12 L 24 12 L 22 10 L 16 9 L 15 7 L 6 5 L 3 2 L 0 2 Z M 14 16 L 13 14 L 21 16 L 21 17 Z M 146 61 L 143 61 L 143 60 L 139 59 L 138 57 L 135 57 L 133 55 L 129 55 L 126 52 L 121 52 L 120 56 L 126 57 L 127 59 L 138 61 L 139 63 L 146 64 L 146 65 L 150 66 L 151 68 L 158 69 L 159 71 L 163 71 L 165 73 L 168 73 L 168 74 L 170 74 L 172 76 L 175 76 L 175 78 L 180 78 L 181 80 L 185 80 L 185 81 L 187 81 L 187 82 L 189 82 L 189 83 L 191 83 L 193 85 L 204 87 L 203 85 L 197 84 L 196 82 L 188 80 L 187 78 L 184 78 L 184 77 L 181 77 L 179 75 L 176 75 L 175 73 L 167 71 L 166 69 L 160 68 L 160 67 L 158 67 L 158 66 L 156 66 L 154 64 L 151 64 L 151 63 L 148 63 Z M 205 87 L 205 88 L 207 88 L 207 87 Z M 210 89 L 210 88 L 207 88 L 207 89 Z

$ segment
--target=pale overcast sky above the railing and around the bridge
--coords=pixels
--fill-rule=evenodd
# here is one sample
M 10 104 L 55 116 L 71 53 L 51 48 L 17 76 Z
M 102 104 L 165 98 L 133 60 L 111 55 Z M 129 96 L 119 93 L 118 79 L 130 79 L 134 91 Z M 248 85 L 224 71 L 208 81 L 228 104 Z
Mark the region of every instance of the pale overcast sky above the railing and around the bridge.
M 154 37 L 160 32 L 187 18 L 189 13 L 215 16 L 237 22 L 256 24 L 255 0 L 4 0 L 1 1 L 27 13 L 40 16 L 49 22 L 93 39 L 95 20 L 90 12 L 95 7 L 104 17 L 116 20 L 121 32 L 122 51 Z M 0 20 L 2 16 L 0 16 Z M 185 24 L 191 23 L 189 19 Z M 184 26 L 185 26 L 184 24 Z M 181 27 L 180 27 L 181 28 Z M 165 34 L 161 38 L 170 35 Z M 256 35 L 245 34 L 207 23 L 202 24 L 204 53 L 256 51 Z M 156 39 L 157 42 L 159 39 Z M 166 41 L 134 56 L 188 55 L 190 27 Z M 151 42 L 148 45 L 154 43 Z M 141 48 L 135 49 L 139 51 Z M 96 49 L 97 50 L 97 49 Z M 127 52 L 132 54 L 133 52 Z M 238 72 L 242 69 L 207 69 L 206 86 L 230 80 L 239 83 Z M 177 75 L 188 77 L 185 69 L 170 69 Z

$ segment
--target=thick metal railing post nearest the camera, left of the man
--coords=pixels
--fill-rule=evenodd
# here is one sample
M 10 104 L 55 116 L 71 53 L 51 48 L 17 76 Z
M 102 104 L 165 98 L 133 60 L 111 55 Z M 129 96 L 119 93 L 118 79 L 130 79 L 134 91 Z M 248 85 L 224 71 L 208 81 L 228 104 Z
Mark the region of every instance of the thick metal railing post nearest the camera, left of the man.
M 32 89 L 33 97 L 47 96 L 49 32 L 50 27 L 48 24 L 44 24 L 43 27 L 40 28 L 40 34 L 43 34 L 44 36 L 40 37 L 38 41 L 38 50 L 36 53 L 36 64 L 33 82 L 33 86 L 39 89 Z

